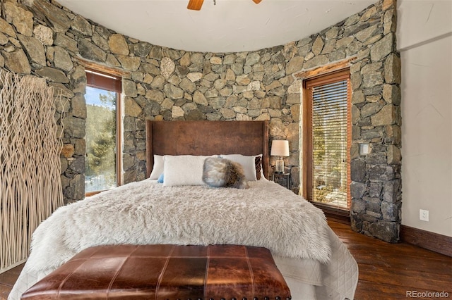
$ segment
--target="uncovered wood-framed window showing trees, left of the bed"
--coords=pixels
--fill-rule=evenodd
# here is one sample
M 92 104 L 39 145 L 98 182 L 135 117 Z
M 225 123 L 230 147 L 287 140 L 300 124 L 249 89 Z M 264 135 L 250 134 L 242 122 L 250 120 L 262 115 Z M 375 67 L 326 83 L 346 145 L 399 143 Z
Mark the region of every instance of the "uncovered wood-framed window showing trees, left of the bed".
M 121 78 L 85 71 L 85 194 L 89 195 L 121 184 Z

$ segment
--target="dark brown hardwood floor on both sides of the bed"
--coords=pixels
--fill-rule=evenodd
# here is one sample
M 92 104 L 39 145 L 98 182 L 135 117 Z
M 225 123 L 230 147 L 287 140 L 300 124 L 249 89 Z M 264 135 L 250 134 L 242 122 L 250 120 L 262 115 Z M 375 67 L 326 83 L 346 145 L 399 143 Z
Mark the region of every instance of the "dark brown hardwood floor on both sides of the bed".
M 359 265 L 355 299 L 452 299 L 451 257 L 410 244 L 388 244 L 353 232 L 350 225 L 328 223 Z M 22 268 L 0 274 L 0 299 L 7 298 Z

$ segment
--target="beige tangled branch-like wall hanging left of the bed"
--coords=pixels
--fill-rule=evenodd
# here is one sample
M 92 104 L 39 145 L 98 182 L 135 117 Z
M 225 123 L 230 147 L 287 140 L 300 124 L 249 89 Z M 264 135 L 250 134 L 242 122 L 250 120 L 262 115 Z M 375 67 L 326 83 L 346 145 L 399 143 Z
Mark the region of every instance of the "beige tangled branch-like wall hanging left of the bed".
M 28 257 L 32 232 L 63 205 L 54 88 L 0 70 L 0 273 Z M 62 118 L 62 116 L 61 116 Z

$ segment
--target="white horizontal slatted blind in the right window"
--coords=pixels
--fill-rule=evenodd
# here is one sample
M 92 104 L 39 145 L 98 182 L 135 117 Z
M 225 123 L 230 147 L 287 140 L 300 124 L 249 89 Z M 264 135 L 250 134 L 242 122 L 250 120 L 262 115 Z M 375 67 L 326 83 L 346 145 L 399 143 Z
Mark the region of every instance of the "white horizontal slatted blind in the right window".
M 312 87 L 312 201 L 347 208 L 348 79 Z

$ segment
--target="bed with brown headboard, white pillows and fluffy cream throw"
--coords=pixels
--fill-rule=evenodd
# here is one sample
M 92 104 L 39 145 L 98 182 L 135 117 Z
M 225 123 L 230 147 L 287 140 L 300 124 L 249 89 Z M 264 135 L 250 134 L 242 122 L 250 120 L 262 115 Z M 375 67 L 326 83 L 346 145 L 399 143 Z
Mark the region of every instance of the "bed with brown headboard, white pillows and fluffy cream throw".
M 83 249 L 107 244 L 263 246 L 273 254 L 292 299 L 353 299 L 357 263 L 325 215 L 266 180 L 268 121 L 148 120 L 146 141 L 149 178 L 55 211 L 35 230 L 8 299 L 20 299 Z M 249 188 L 198 184 L 198 165 L 210 156 L 241 161 L 246 179 L 255 176 Z

